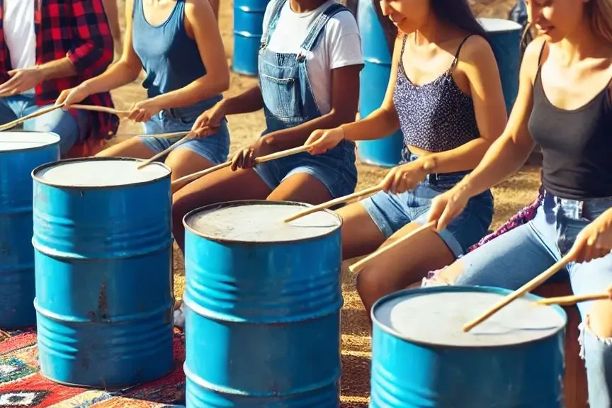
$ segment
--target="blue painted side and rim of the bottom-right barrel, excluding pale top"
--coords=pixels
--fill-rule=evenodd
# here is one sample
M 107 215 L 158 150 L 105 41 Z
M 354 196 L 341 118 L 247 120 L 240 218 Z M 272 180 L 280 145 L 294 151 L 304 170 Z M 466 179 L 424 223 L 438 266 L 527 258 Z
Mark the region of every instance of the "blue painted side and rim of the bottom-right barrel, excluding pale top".
M 564 406 L 562 387 L 567 316 L 560 307 L 553 306 L 554 310 L 548 311 L 555 316 L 555 324 L 551 322 L 550 326 L 547 326 L 550 334 L 532 341 L 514 341 L 501 345 L 450 346 L 441 345 L 439 342 L 416 341 L 414 336 L 400 334 L 392 324 L 384 322 L 388 316 L 387 312 L 383 312 L 385 307 L 392 307 L 417 296 L 443 293 L 465 293 L 467 296 L 489 293 L 499 295 L 496 297 L 500 300 L 510 291 L 487 287 L 443 286 L 402 290 L 378 300 L 371 314 L 373 336 L 370 408 L 560 408 Z M 526 297 L 532 300 L 539 299 L 534 295 Z M 460 308 L 461 306 L 451 303 L 442 307 Z M 487 307 L 488 303 L 475 314 L 466 314 L 467 319 L 465 322 L 458 322 L 457 330 L 461 331 L 461 325 L 477 317 Z M 528 307 L 533 307 L 534 310 L 536 308 L 535 305 Z M 429 312 L 431 319 L 443 324 L 439 314 L 422 308 L 420 312 L 424 314 Z M 516 319 L 521 318 L 516 317 Z M 411 322 L 408 316 L 402 316 L 401 319 L 404 322 Z M 482 323 L 481 327 L 484 324 L 486 322 Z M 416 330 L 423 330 L 421 331 L 423 333 L 431 332 L 424 331 L 426 324 L 414 327 Z M 503 325 L 500 327 L 502 330 L 508 330 Z M 475 334 L 477 329 L 478 326 L 468 334 L 477 336 Z M 524 331 L 528 333 L 529 329 L 526 328 Z M 509 334 L 514 335 L 514 331 L 509 331 Z M 482 335 L 487 336 L 487 334 Z

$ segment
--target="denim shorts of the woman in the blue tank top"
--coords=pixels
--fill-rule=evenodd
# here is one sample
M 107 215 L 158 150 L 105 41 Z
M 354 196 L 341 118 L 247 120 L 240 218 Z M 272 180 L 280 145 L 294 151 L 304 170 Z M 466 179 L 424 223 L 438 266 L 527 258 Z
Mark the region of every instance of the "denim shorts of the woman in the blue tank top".
M 196 105 L 161 111 L 145 123 L 145 133 L 147 135 L 157 135 L 160 133 L 187 132 L 191 130 L 198 115 L 205 110 L 205 107 L 198 108 L 198 105 Z M 174 145 L 182 137 L 167 139 L 164 137 L 142 136 L 140 140 L 153 152 L 159 153 Z M 225 162 L 227 154 L 229 154 L 229 130 L 227 129 L 226 120 L 222 121 L 219 131 L 214 135 L 188 140 L 176 147 L 176 150 L 179 149 L 188 149 L 212 164 Z M 163 161 L 164 159 L 165 157 L 161 160 Z

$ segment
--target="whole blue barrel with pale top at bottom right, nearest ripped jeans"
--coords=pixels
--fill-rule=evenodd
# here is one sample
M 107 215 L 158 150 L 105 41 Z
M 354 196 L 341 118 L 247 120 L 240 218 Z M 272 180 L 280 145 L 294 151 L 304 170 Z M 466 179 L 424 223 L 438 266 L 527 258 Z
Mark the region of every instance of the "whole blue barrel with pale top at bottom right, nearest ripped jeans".
M 561 408 L 567 315 L 526 295 L 464 332 L 511 293 L 402 290 L 372 309 L 370 408 Z

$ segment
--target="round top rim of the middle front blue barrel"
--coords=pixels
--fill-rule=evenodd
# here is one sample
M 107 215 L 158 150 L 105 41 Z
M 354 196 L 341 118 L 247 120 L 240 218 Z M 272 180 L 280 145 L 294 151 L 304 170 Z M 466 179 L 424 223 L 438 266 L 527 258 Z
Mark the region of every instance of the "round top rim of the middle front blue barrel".
M 293 240 L 293 241 L 292 240 L 285 240 L 285 241 L 266 241 L 266 242 L 253 242 L 253 241 L 244 241 L 242 239 L 224 239 L 224 238 L 219 238 L 219 237 L 212 237 L 212 236 L 210 236 L 208 234 L 204 234 L 202 232 L 196 231 L 195 229 L 191 228 L 187 224 L 187 218 L 190 217 L 191 215 L 195 214 L 196 212 L 210 210 L 211 208 L 227 208 L 227 207 L 235 207 L 235 206 L 238 206 L 238 205 L 245 205 L 245 204 L 250 204 L 250 205 L 254 205 L 254 204 L 259 204 L 259 205 L 294 205 L 295 207 L 304 207 L 304 208 L 314 207 L 314 205 L 312 205 L 312 204 L 300 203 L 298 201 L 271 201 L 271 200 L 231 200 L 231 201 L 224 201 L 222 203 L 203 205 L 202 207 L 194 208 L 193 210 L 187 212 L 187 214 L 183 217 L 183 227 L 186 230 L 188 230 L 189 232 L 191 232 L 192 234 L 196 235 L 197 237 L 208 239 L 209 241 L 212 241 L 212 242 L 219 242 L 219 243 L 224 243 L 224 244 L 275 245 L 275 244 L 288 244 L 290 242 L 310 242 L 310 241 L 314 241 L 316 239 L 321 239 L 321 238 L 324 238 L 324 237 L 329 237 L 331 234 L 335 234 L 339 229 L 341 229 L 342 225 L 343 225 L 343 222 L 344 222 L 344 220 L 342 220 L 342 217 L 340 217 L 340 215 L 338 215 L 336 212 L 331 211 L 331 210 L 329 210 L 327 208 L 324 208 L 324 209 L 319 210 L 319 211 L 327 212 L 329 215 L 332 215 L 333 217 L 336 217 L 336 220 L 339 221 L 339 225 L 336 228 L 331 229 L 330 232 L 326 232 L 325 234 L 317 235 L 316 237 L 304 238 L 304 239 Z

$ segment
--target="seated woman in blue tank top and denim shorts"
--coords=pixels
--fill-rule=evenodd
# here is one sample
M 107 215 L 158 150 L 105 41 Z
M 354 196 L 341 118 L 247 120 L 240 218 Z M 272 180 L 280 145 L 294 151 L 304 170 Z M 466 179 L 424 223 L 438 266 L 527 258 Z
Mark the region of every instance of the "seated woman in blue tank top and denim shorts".
M 141 69 L 148 99 L 132 108 L 129 118 L 144 123 L 145 137 L 134 137 L 98 156 L 147 159 L 176 143 L 153 135 L 188 131 L 196 118 L 222 99 L 229 87 L 229 68 L 215 15 L 208 0 L 128 1 L 121 59 L 98 77 L 62 92 L 67 107 L 90 94 L 118 88 L 137 79 Z M 165 158 L 172 178 L 225 162 L 229 133 L 225 120 L 214 135 L 181 143 Z

